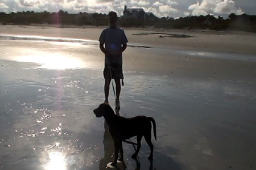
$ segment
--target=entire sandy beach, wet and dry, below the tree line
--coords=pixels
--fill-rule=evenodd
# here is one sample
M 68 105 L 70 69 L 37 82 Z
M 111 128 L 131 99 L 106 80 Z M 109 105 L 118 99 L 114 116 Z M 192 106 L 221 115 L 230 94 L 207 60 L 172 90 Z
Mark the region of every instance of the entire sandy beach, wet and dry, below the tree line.
M 102 29 L 0 27 L 0 169 L 112 169 L 92 112 L 104 101 Z M 140 164 L 123 144 L 126 169 L 255 169 L 255 33 L 124 30 L 120 113 L 154 117 L 158 136 L 152 163 L 144 140 Z

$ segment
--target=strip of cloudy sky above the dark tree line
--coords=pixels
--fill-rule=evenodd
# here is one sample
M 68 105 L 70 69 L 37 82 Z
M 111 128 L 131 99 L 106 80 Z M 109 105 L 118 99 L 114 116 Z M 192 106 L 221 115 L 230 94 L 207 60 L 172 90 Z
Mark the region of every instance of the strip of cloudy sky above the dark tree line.
M 79 12 L 97 12 L 108 14 L 116 11 L 123 15 L 127 8 L 143 8 L 158 17 L 179 18 L 188 15 L 214 15 L 226 18 L 229 14 L 256 15 L 255 0 L 0 0 L 0 12 L 67 11 L 69 14 Z

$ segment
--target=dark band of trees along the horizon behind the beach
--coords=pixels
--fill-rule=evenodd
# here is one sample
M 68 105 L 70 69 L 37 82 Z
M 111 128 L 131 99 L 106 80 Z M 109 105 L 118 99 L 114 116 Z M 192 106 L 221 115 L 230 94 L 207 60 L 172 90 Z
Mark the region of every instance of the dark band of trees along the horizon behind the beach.
M 0 12 L 0 22 L 2 24 L 53 24 L 53 25 L 108 25 L 108 15 L 106 14 L 89 14 L 80 12 L 79 14 L 69 14 L 67 11 L 60 10 L 59 12 L 34 12 L 22 11 L 11 12 L 6 14 Z M 177 28 L 177 29 L 212 29 L 225 30 L 236 29 L 240 31 L 256 32 L 256 16 L 255 15 L 236 15 L 230 14 L 227 19 L 213 15 L 186 16 L 179 19 L 171 17 L 153 17 L 143 19 L 127 19 L 118 18 L 118 24 L 121 27 L 156 27 L 156 28 Z

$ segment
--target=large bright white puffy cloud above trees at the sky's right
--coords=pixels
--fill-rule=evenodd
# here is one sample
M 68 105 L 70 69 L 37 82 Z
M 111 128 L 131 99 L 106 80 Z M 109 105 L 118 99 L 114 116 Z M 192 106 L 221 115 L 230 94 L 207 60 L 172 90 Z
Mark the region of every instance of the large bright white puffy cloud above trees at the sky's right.
M 210 12 L 215 14 L 243 14 L 241 8 L 235 6 L 233 0 L 203 0 L 188 7 L 192 15 L 208 15 Z

